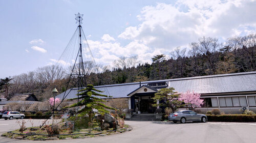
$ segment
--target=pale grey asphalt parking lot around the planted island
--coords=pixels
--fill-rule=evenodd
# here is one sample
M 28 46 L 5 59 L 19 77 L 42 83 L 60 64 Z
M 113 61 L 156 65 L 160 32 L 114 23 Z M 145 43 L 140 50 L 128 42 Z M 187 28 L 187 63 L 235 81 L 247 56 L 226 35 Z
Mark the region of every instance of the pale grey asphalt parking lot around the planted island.
M 41 121 L 34 120 L 34 125 L 39 125 Z M 15 123 L 16 120 L 5 121 L 0 119 L 1 134 L 18 128 L 18 126 L 14 126 Z M 207 122 L 175 124 L 154 121 L 126 121 L 126 124 L 131 125 L 133 130 L 104 137 L 72 139 L 72 142 L 255 142 L 256 140 L 256 123 Z M 0 137 L 0 142 L 35 141 Z M 71 140 L 36 142 L 71 142 Z

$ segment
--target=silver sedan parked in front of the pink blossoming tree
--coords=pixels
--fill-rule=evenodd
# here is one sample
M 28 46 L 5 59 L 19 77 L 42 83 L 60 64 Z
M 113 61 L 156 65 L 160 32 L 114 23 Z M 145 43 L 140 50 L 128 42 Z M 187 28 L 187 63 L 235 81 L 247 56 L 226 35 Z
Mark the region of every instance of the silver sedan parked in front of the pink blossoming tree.
M 174 123 L 176 122 L 186 123 L 187 121 L 201 121 L 205 123 L 207 121 L 207 116 L 196 113 L 191 110 L 181 110 L 175 113 L 171 113 L 168 116 L 168 120 L 173 121 Z

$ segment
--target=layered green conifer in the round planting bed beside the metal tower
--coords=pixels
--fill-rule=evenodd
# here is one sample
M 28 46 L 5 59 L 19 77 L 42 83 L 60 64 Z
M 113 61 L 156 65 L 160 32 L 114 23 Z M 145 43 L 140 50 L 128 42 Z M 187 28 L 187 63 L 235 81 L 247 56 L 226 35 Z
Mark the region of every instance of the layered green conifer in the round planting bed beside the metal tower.
M 81 92 L 79 94 L 77 94 L 77 96 L 79 97 L 80 100 L 78 103 L 75 103 L 71 106 L 67 106 L 65 108 L 70 108 L 70 107 L 77 107 L 77 106 L 82 106 L 83 108 L 81 110 L 79 110 L 78 112 L 84 115 L 89 115 L 89 120 L 92 121 L 92 117 L 94 115 L 94 111 L 93 109 L 97 109 L 97 113 L 103 114 L 103 113 L 109 113 L 108 110 L 106 109 L 112 109 L 112 110 L 116 110 L 115 108 L 109 107 L 104 105 L 103 103 L 100 102 L 106 102 L 96 96 L 100 96 L 100 97 L 111 97 L 111 96 L 107 96 L 107 95 L 102 95 L 99 93 L 102 93 L 102 91 L 100 90 L 96 90 L 92 84 L 88 84 L 87 88 L 84 88 L 82 90 L 79 90 L 78 92 Z M 98 93 L 96 93 L 98 92 Z M 73 98 L 70 100 L 77 100 L 77 98 Z

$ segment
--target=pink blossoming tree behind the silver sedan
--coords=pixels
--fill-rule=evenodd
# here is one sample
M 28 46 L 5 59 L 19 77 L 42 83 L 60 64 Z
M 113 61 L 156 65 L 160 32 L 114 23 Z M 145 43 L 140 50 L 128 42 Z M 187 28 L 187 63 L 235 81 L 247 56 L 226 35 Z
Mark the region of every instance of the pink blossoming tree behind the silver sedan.
M 200 99 L 201 94 L 197 94 L 194 91 L 187 91 L 185 93 L 181 93 L 179 97 L 179 101 L 182 101 L 189 108 L 200 108 L 203 104 L 204 100 Z

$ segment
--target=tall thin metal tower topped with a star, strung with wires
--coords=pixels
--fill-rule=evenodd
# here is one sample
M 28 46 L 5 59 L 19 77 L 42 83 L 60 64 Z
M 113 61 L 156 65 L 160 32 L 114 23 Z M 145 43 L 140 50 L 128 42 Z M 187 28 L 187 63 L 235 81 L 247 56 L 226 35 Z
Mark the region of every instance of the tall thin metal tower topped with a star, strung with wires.
M 81 24 L 83 20 L 83 14 L 78 13 L 75 14 L 75 16 L 75 20 L 76 23 L 78 23 L 78 26 L 66 49 L 63 51 L 59 60 L 57 61 L 57 64 L 61 66 L 69 66 L 71 65 L 71 63 L 73 64 L 73 66 L 70 70 L 70 76 L 67 83 L 66 91 L 61 99 L 61 102 L 57 106 L 55 106 L 53 111 L 56 110 L 58 107 L 63 109 L 60 104 L 65 100 L 65 98 L 70 94 L 72 90 L 79 91 L 87 87 L 86 74 L 88 73 L 86 73 L 84 66 L 86 66 L 88 63 L 92 63 L 94 65 L 96 64 L 89 44 L 87 42 L 86 36 L 84 35 L 82 30 Z M 73 82 L 73 87 L 70 86 L 70 82 Z M 69 88 L 71 89 L 68 90 Z M 79 102 L 79 98 L 77 102 Z M 78 110 L 79 107 L 77 107 L 77 111 Z

